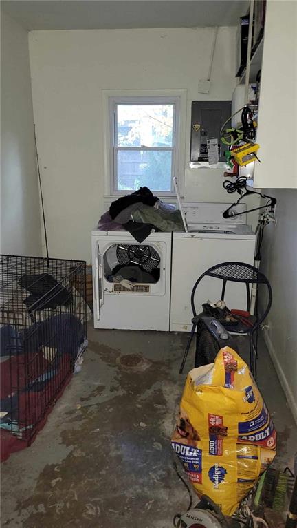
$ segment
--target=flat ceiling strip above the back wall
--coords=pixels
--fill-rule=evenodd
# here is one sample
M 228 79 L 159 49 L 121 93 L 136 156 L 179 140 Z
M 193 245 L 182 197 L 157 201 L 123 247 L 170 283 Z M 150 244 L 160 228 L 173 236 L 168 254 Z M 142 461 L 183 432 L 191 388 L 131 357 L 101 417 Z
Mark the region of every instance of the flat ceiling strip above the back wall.
M 236 25 L 248 0 L 2 0 L 28 30 L 193 28 Z

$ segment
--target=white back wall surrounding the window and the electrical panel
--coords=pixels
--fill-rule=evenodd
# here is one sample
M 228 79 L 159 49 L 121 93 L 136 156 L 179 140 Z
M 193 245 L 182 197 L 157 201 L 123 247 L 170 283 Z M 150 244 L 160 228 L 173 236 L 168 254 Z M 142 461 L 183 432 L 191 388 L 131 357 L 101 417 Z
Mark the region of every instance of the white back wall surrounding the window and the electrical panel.
M 235 28 L 220 28 L 210 95 L 197 91 L 199 79 L 208 74 L 213 32 L 30 33 L 34 118 L 52 256 L 90 260 L 90 231 L 104 208 L 102 89 L 186 89 L 188 166 L 191 101 L 230 99 L 235 86 Z M 185 199 L 232 202 L 221 187 L 222 173 L 185 167 Z

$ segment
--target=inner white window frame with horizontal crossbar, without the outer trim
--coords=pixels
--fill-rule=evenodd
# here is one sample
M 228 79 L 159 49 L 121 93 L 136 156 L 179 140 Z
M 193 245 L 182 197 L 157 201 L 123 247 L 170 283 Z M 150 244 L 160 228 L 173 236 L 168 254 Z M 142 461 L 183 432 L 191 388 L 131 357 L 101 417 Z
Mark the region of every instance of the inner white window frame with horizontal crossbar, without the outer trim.
M 118 190 L 118 151 L 120 150 L 135 150 L 135 151 L 172 151 L 171 163 L 171 177 L 170 177 L 170 191 L 157 191 L 158 196 L 175 196 L 173 187 L 173 177 L 179 173 L 179 145 L 181 135 L 181 94 L 174 95 L 124 95 L 124 96 L 109 96 L 109 179 L 110 179 L 110 193 L 111 196 L 123 196 L 126 193 L 133 192 L 134 189 Z M 116 107 L 120 104 L 127 105 L 154 105 L 154 104 L 173 104 L 175 109 L 173 112 L 173 146 L 172 147 L 118 147 L 115 145 L 115 138 L 117 137 L 117 122 L 116 122 Z

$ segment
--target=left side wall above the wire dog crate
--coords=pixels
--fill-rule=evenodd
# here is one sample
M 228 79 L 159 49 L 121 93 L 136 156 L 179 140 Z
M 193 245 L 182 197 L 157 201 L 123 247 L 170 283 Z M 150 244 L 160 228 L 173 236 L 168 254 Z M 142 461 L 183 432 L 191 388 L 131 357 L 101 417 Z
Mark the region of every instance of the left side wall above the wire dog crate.
M 1 253 L 41 255 L 28 32 L 1 15 Z

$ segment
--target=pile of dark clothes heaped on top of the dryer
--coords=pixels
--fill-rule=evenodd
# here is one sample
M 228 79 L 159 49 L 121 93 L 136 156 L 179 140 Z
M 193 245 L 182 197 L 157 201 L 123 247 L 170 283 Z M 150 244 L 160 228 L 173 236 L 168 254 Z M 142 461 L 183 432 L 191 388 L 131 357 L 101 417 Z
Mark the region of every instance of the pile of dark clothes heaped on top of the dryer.
M 184 224 L 174 205 L 164 204 L 148 187 L 140 187 L 112 202 L 109 211 L 100 218 L 98 229 L 125 229 L 141 243 L 152 231 L 184 231 Z

